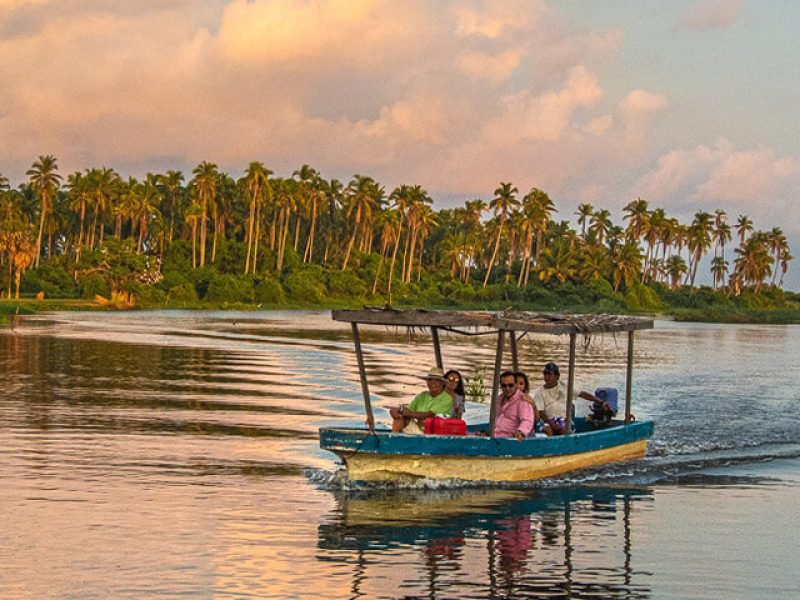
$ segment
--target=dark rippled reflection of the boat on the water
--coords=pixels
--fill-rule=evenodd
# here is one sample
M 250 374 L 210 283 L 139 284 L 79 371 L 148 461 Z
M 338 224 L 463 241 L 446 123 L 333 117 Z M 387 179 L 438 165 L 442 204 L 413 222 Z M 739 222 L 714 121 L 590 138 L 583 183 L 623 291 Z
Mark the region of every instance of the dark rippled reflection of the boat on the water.
M 320 561 L 350 566 L 353 597 L 648 598 L 635 568 L 647 489 L 337 493 Z

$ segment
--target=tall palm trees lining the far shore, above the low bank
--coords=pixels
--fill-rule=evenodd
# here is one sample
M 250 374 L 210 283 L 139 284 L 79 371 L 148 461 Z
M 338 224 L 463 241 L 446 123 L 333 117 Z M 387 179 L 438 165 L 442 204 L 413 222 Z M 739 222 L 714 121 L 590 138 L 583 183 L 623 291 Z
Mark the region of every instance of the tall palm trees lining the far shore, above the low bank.
M 54 270 L 67 274 L 75 289 L 160 285 L 168 294 L 191 283 L 201 295 L 208 290 L 190 273 L 211 269 L 272 281 L 278 300 L 287 274 L 304 269 L 362 297 L 391 298 L 393 288 L 431 278 L 473 290 L 554 282 L 677 290 L 695 287 L 707 255 L 712 288 L 736 297 L 782 288 L 794 258 L 780 227 L 756 229 L 747 215 L 729 222 L 723 209 L 698 211 L 680 223 L 637 198 L 619 224 L 581 204 L 573 228 L 545 191 L 510 182 L 488 201 L 435 211 L 419 185 L 387 193 L 367 175 L 344 183 L 309 165 L 287 177 L 251 162 L 237 178 L 206 161 L 188 179 L 173 170 L 126 179 L 108 167 L 64 177 L 46 155 L 26 175 L 12 187 L 0 174 L 6 297 L 12 288 L 19 297 L 26 281 L 41 285 L 45 265 L 51 280 Z

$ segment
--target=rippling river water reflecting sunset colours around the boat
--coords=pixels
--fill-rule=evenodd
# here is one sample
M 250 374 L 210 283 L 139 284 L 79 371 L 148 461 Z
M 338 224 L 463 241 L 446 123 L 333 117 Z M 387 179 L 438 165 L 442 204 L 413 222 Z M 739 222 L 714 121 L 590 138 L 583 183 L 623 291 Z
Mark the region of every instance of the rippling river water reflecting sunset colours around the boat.
M 644 460 L 354 489 L 318 448 L 319 426 L 364 419 L 329 313 L 19 318 L 0 331 L 0 597 L 800 597 L 800 327 L 656 325 L 636 338 Z M 385 420 L 431 346 L 362 343 Z M 467 377 L 491 370 L 491 340 L 443 345 Z M 520 341 L 532 374 L 567 351 Z M 581 388 L 622 390 L 625 351 L 581 346 Z

